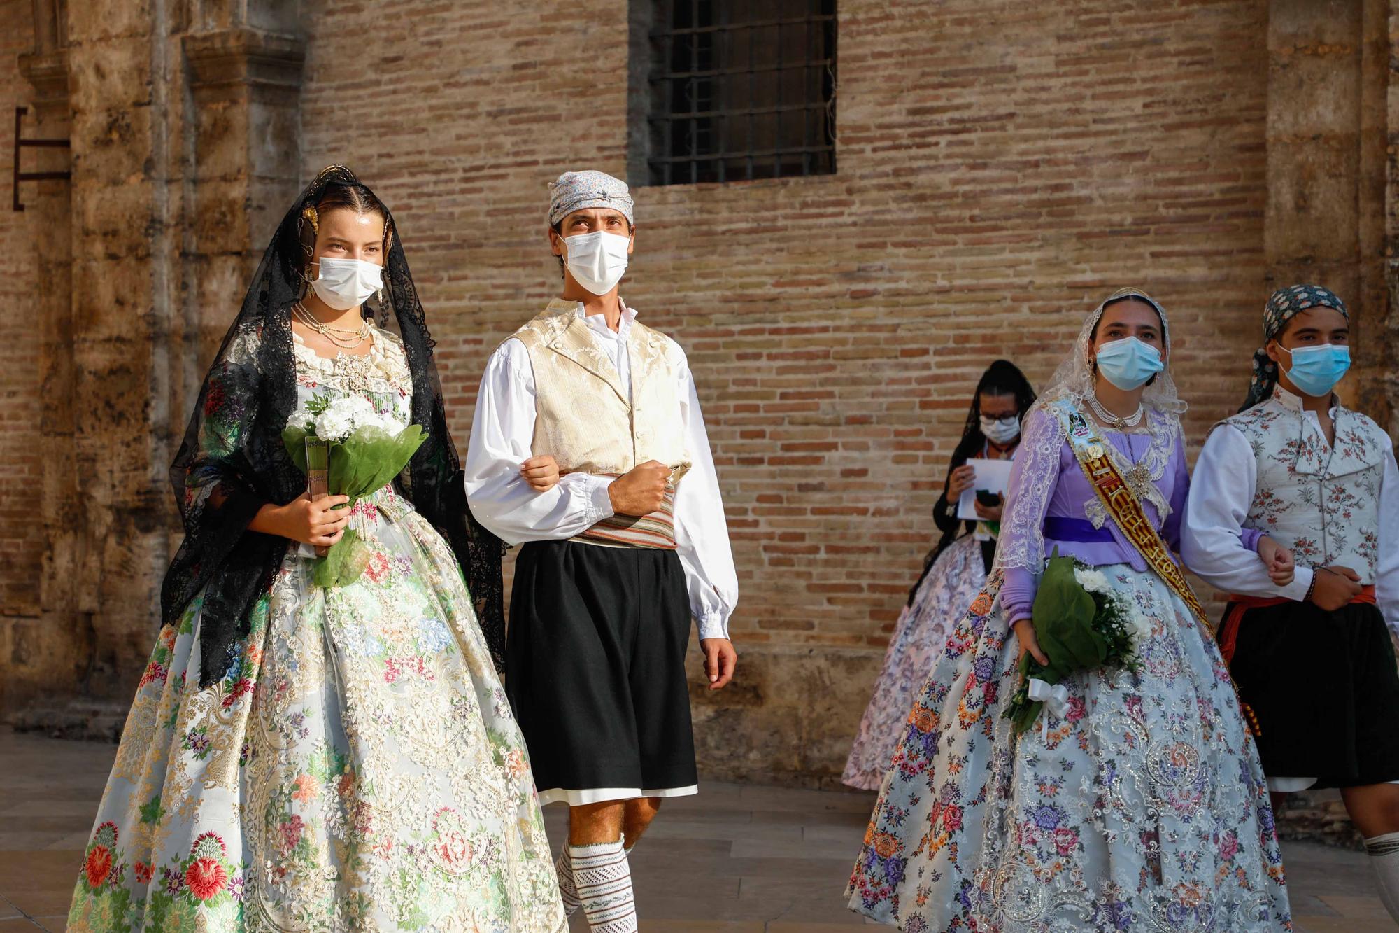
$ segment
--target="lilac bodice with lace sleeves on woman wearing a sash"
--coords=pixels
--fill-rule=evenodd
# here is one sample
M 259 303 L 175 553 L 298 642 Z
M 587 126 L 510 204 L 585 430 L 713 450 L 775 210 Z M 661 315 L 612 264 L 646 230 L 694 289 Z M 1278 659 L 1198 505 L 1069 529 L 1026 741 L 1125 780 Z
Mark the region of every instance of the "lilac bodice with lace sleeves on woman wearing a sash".
M 1142 497 L 1142 509 L 1177 551 L 1191 485 L 1185 445 L 1177 419 L 1156 413 L 1149 417 L 1150 434 L 1100 433 L 1121 454 L 1116 464 L 1121 472 L 1137 462 L 1150 471 L 1156 495 Z M 1021 454 L 1010 471 L 1004 511 L 1009 520 L 1002 523 L 999 544 L 1006 569 L 1000 600 L 1009 621 L 1030 616 L 1044 560 L 1056 548 L 1060 556 L 1072 555 L 1090 566 L 1128 563 L 1146 572 L 1142 555 L 1102 510 L 1052 413 L 1037 409 L 1025 419 Z

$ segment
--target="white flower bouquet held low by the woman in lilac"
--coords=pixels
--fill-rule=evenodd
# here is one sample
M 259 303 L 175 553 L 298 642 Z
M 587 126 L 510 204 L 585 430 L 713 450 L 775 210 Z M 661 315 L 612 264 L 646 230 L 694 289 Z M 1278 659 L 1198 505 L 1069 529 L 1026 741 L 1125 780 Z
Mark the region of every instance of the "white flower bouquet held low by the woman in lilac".
M 1016 734 L 1030 728 L 1049 702 L 1063 716 L 1067 689 L 1059 682 L 1074 671 L 1097 667 L 1142 668 L 1139 653 L 1151 637 L 1151 619 L 1107 574 L 1073 558 L 1049 558 L 1031 609 L 1035 640 L 1049 664 L 1028 651 L 1020 664 L 1020 689 L 1003 713 Z

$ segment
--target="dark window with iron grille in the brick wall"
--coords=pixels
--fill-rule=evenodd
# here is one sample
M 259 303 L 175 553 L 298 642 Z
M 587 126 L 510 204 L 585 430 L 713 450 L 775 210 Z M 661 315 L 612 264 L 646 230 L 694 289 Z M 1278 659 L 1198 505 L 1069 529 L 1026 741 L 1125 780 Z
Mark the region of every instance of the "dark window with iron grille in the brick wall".
M 631 6 L 634 182 L 835 171 L 835 0 Z

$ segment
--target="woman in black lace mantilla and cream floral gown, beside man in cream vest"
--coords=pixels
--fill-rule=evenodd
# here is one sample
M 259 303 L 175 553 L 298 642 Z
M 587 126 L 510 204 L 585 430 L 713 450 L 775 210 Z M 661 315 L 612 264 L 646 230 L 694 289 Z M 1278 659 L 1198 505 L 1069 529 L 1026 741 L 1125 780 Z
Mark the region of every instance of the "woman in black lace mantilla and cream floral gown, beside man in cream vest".
M 267 247 L 171 471 L 186 537 L 70 929 L 565 929 L 477 621 L 499 635 L 499 544 L 467 524 L 431 347 L 388 209 L 327 168 Z M 427 440 L 334 510 L 284 430 L 353 427 L 336 417 Z M 362 566 L 318 586 L 315 549 L 347 525 Z

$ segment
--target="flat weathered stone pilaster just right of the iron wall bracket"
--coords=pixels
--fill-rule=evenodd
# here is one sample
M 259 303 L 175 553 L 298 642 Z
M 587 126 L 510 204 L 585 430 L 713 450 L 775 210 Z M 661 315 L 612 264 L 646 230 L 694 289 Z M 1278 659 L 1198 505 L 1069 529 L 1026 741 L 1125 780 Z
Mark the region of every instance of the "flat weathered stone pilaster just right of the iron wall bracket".
M 129 699 L 169 560 L 171 21 L 162 0 L 69 13 L 76 455 L 50 469 L 74 474 L 78 559 L 53 573 L 91 625 L 83 692 Z

